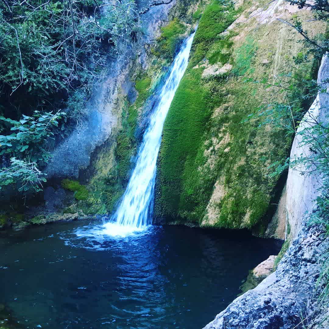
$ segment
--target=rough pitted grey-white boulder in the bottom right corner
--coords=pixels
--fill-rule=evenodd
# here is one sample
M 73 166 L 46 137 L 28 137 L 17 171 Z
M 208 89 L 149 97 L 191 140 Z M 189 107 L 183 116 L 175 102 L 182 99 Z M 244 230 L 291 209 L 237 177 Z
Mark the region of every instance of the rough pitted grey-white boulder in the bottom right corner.
M 318 260 L 328 241 L 321 228 L 305 225 L 277 270 L 234 300 L 205 329 L 291 329 L 316 311 Z M 312 241 L 308 238 L 316 236 Z

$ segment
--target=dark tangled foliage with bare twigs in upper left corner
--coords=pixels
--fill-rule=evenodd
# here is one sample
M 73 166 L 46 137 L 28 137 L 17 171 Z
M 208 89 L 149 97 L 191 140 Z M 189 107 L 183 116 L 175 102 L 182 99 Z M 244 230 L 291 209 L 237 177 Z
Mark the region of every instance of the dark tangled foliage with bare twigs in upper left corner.
M 104 77 L 109 50 L 122 52 L 139 31 L 134 8 L 129 0 L 1 0 L 3 114 L 65 107 L 72 89 Z

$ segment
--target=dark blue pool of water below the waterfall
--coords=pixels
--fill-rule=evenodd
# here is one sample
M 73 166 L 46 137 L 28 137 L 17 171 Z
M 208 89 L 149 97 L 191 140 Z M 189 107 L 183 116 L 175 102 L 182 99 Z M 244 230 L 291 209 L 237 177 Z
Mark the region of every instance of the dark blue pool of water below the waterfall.
M 178 226 L 95 240 L 77 236 L 82 225 L 0 234 L 0 303 L 24 327 L 202 328 L 281 246 Z

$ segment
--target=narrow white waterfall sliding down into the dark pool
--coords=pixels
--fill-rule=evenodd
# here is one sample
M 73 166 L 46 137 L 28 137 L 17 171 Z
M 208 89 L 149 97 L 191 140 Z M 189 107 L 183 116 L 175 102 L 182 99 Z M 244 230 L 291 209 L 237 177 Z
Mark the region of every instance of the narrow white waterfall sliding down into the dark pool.
M 194 34 L 195 32 L 184 41 L 160 89 L 159 102 L 143 135 L 135 169 L 120 205 L 111 220 L 104 224 L 105 234 L 126 235 L 143 231 L 152 223 L 156 162 L 162 129 L 171 101 L 186 70 Z

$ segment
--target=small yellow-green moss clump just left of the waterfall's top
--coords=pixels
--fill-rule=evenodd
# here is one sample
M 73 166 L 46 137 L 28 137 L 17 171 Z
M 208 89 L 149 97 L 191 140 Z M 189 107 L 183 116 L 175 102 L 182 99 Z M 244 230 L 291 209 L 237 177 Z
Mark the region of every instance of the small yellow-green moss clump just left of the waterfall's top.
M 181 35 L 186 32 L 186 26 L 178 18 L 174 18 L 166 26 L 161 28 L 161 36 L 158 38 L 158 53 L 168 60 L 172 60 L 176 54 L 178 45 L 182 41 Z

